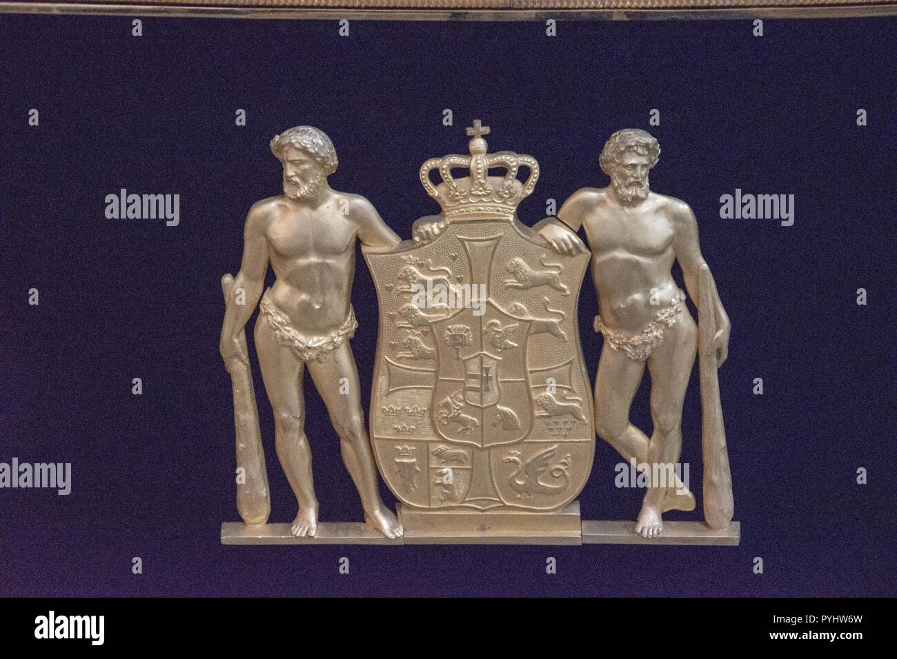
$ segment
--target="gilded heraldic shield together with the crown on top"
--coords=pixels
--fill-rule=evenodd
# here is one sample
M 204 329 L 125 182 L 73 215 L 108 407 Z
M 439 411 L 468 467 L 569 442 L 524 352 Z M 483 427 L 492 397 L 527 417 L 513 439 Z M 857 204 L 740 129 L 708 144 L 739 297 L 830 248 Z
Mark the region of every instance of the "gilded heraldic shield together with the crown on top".
M 442 213 L 417 221 L 414 241 L 363 248 L 380 309 L 370 436 L 405 509 L 557 510 L 591 471 L 576 314 L 588 256 L 554 254 L 518 221 L 538 164 L 487 153 L 486 133 L 477 121 L 469 155 L 423 164 Z

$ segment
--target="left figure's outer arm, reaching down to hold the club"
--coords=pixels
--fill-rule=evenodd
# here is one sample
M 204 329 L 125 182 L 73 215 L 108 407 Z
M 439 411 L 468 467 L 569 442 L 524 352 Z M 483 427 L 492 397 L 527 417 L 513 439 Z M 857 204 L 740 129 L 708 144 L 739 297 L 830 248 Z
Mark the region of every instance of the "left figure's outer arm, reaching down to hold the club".
M 262 297 L 262 287 L 265 286 L 265 273 L 268 269 L 268 242 L 265 237 L 267 212 L 266 202 L 254 204 L 249 209 L 243 229 L 243 261 L 227 299 L 219 343 L 222 359 L 228 370 L 234 358 L 246 363 L 249 359 L 240 347 L 239 333 L 249 316 L 252 316 L 258 299 Z M 236 303 L 236 292 L 239 289 L 246 291 L 245 304 Z

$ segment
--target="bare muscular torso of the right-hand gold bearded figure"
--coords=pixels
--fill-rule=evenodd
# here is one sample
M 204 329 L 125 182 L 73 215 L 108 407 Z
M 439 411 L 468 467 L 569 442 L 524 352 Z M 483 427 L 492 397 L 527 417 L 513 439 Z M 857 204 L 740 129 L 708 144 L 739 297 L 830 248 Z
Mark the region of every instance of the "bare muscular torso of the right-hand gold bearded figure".
M 679 292 L 671 268 L 675 221 L 669 197 L 650 193 L 636 207 L 602 190 L 581 213 L 592 251 L 592 277 L 605 325 L 640 332 Z

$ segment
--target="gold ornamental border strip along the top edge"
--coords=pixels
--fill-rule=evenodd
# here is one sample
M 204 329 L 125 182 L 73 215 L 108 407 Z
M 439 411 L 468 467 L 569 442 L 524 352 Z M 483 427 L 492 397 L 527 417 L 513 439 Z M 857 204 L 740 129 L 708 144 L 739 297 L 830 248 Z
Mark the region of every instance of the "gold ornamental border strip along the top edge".
M 897 15 L 897 0 L 0 0 L 0 13 L 374 21 L 860 18 Z

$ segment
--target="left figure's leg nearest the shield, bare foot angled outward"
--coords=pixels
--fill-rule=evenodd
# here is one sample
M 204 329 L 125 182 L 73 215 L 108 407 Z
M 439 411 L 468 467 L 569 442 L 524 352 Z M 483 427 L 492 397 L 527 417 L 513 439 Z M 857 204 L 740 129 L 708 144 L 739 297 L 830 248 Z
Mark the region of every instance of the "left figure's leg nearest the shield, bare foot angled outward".
M 309 361 L 309 374 L 318 387 L 318 393 L 330 412 L 330 421 L 340 438 L 340 450 L 346 469 L 355 481 L 361 496 L 365 521 L 373 525 L 388 538 L 402 534 L 395 514 L 380 499 L 377 468 L 370 449 L 368 431 L 364 426 L 364 412 L 361 411 L 361 385 L 358 369 L 349 343 L 343 343 L 327 353 L 327 361 Z M 340 380 L 345 378 L 346 386 Z M 341 394 L 340 389 L 346 391 Z

